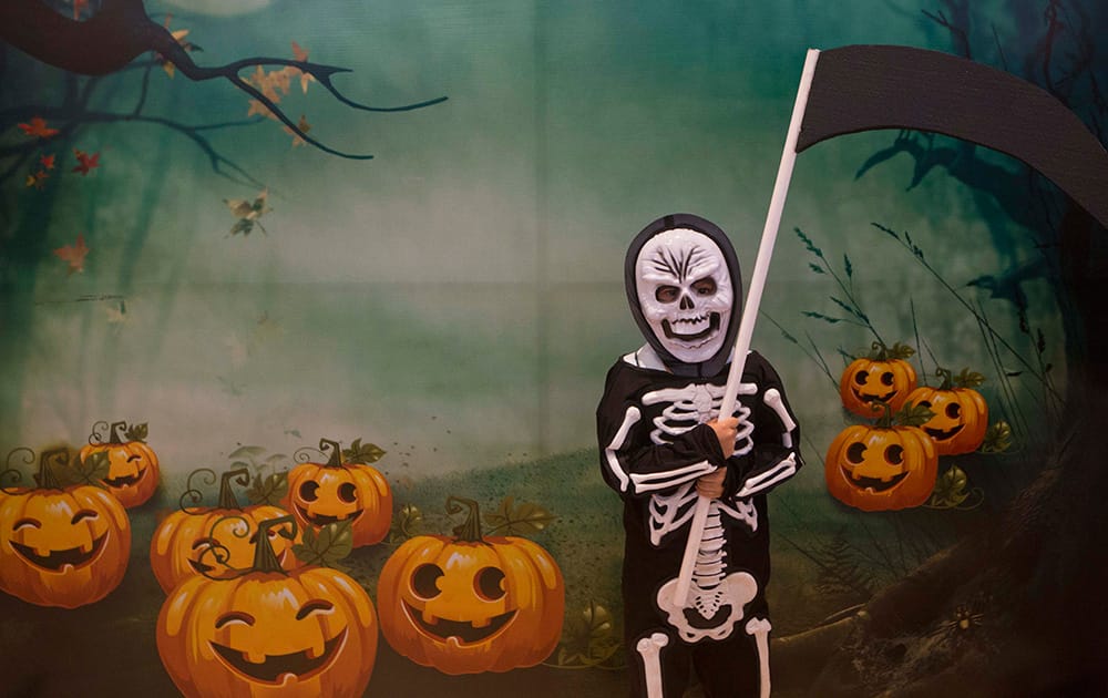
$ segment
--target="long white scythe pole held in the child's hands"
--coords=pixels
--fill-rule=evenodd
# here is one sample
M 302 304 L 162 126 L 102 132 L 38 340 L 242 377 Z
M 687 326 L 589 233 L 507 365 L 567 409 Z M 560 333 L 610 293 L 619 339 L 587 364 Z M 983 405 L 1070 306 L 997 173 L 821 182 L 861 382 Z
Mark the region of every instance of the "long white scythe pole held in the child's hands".
M 758 246 L 758 258 L 755 260 L 753 275 L 750 277 L 750 288 L 747 291 L 747 302 L 742 307 L 742 318 L 739 320 L 739 335 L 735 338 L 735 351 L 731 353 L 731 368 L 727 373 L 727 389 L 719 407 L 719 415 L 730 415 L 735 412 L 735 400 L 739 394 L 739 381 L 747 363 L 747 352 L 750 351 L 750 337 L 755 331 L 755 320 L 758 319 L 758 306 L 761 305 L 762 290 L 766 288 L 766 274 L 769 271 L 769 260 L 773 256 L 773 244 L 777 242 L 777 230 L 781 225 L 781 212 L 784 209 L 784 198 L 789 193 L 789 182 L 792 179 L 792 166 L 797 162 L 797 137 L 800 135 L 800 124 L 804 121 L 804 107 L 808 106 L 808 92 L 815 74 L 815 61 L 820 52 L 809 49 L 804 59 L 804 70 L 800 76 L 800 88 L 797 90 L 797 102 L 792 106 L 792 121 L 789 122 L 789 134 L 784 138 L 784 151 L 781 164 L 777 168 L 777 183 L 773 185 L 773 196 L 769 202 L 769 213 L 766 215 L 766 227 L 762 228 L 761 243 Z M 688 542 L 685 544 L 685 557 L 681 560 L 681 572 L 674 589 L 676 605 L 688 605 L 689 585 L 693 583 L 693 567 L 696 564 L 697 552 L 704 537 L 704 526 L 708 519 L 711 500 L 700 495 L 697 499 L 696 512 L 689 527 Z

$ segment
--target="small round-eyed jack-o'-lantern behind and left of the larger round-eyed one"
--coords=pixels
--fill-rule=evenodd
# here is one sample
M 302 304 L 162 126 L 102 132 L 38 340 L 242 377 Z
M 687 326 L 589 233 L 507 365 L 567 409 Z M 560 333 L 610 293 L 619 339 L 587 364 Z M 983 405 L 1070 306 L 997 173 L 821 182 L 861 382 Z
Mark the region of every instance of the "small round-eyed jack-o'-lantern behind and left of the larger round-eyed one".
M 329 449 L 326 463 L 301 463 L 288 474 L 288 494 L 281 506 L 301 526 L 319 530 L 330 523 L 349 521 L 353 545 L 380 543 L 392 524 L 392 490 L 377 469 L 368 465 L 383 451 L 360 439 L 345 459 L 335 441 L 321 439 L 320 450 Z

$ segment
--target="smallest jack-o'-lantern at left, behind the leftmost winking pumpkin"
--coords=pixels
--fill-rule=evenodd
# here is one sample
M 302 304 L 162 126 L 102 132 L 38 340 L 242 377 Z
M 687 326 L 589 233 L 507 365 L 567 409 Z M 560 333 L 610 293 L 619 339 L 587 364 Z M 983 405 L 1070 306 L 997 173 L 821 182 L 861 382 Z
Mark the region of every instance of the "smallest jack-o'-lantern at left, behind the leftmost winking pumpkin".
M 111 468 L 104 478 L 104 485 L 115 495 L 123 506 L 131 509 L 145 504 L 157 490 L 161 473 L 157 465 L 157 454 L 145 443 L 146 424 L 114 422 L 109 429 L 109 440 L 102 443 L 93 427 L 90 443 L 81 446 L 79 458 L 83 461 L 93 453 L 107 453 Z M 120 430 L 125 430 L 123 434 Z

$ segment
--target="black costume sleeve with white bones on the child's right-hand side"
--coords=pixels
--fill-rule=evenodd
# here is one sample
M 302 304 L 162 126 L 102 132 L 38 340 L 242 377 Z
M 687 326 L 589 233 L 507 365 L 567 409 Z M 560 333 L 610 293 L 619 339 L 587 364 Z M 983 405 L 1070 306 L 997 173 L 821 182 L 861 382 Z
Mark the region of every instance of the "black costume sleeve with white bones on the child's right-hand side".
M 784 397 L 781 379 L 769 361 L 757 353 L 748 358 L 758 383 L 752 407 L 753 451 L 737 483 L 738 497 L 768 492 L 797 474 L 800 458 L 800 428 Z

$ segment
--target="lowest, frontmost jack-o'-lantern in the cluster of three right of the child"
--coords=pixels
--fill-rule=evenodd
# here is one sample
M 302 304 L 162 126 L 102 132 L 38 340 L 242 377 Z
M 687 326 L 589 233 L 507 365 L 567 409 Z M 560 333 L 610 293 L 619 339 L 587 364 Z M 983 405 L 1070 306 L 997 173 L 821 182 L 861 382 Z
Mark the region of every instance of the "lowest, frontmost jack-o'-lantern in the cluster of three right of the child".
M 919 506 L 927 501 L 938 474 L 938 453 L 920 429 L 931 417 L 925 409 L 901 413 L 893 425 L 892 408 L 875 424 L 843 429 L 828 449 L 824 478 L 840 502 L 866 512 Z

